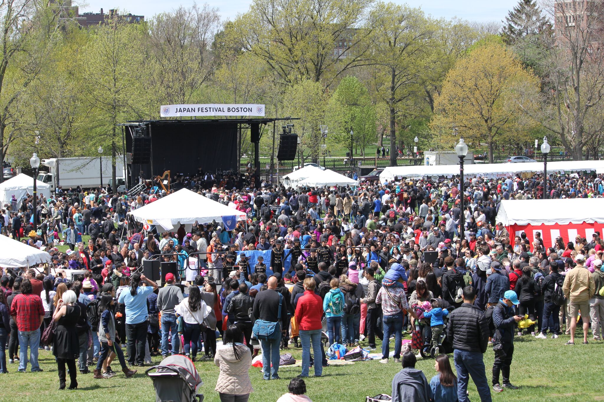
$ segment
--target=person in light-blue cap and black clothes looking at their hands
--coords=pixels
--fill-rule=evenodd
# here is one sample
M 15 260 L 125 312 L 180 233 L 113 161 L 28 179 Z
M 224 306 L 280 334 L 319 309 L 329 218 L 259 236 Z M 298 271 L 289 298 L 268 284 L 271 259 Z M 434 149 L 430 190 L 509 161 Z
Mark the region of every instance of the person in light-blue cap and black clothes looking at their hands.
M 493 335 L 493 351 L 495 362 L 493 363 L 493 391 L 501 392 L 503 388 L 499 383 L 499 374 L 503 375 L 503 386 L 509 389 L 518 389 L 510 383 L 510 365 L 514 354 L 514 328 L 516 322 L 524 318 L 524 314 L 514 315 L 514 306 L 521 303 L 514 291 L 507 291 L 493 309 L 493 324 L 495 324 L 495 335 Z

